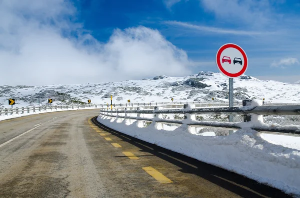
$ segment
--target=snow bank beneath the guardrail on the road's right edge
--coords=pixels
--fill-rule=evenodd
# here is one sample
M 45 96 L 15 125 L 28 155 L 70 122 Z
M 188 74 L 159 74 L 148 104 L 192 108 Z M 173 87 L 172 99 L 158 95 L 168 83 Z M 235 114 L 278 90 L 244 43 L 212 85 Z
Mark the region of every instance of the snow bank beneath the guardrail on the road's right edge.
M 181 125 L 173 131 L 158 130 L 161 124 L 147 128 L 116 123 L 106 116 L 98 122 L 140 140 L 184 154 L 202 162 L 246 176 L 285 193 L 300 195 L 300 150 L 271 144 L 261 134 L 244 128 L 230 136 L 200 136 L 191 127 Z

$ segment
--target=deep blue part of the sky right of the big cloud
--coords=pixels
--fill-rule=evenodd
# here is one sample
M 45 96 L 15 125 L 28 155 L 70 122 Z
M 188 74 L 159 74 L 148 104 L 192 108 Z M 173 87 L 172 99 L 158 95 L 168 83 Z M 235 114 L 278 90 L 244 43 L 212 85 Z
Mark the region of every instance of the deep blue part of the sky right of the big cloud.
M 96 39 L 106 42 L 115 28 L 157 29 L 200 62 L 194 72 L 217 71 L 215 52 L 227 42 L 246 51 L 248 75 L 300 71 L 299 0 L 84 0 L 75 4 L 80 10 L 78 20 Z

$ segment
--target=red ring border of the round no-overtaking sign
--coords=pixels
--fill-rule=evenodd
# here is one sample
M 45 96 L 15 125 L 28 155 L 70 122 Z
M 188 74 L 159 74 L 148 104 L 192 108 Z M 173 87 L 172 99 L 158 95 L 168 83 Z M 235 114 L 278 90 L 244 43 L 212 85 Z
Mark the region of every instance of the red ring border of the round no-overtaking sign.
M 237 50 L 241 53 L 241 55 L 242 55 L 242 57 L 243 57 L 243 59 L 244 59 L 244 65 L 243 65 L 242 69 L 241 69 L 239 72 L 237 72 L 237 73 L 229 73 L 229 72 L 227 72 L 227 71 L 222 67 L 222 65 L 221 65 L 221 61 L 220 61 L 221 53 L 222 53 L 225 49 L 227 49 L 227 48 L 229 48 L 229 47 L 232 47 L 232 48 L 237 49 Z M 217 50 L 215 60 L 216 60 L 216 65 L 217 65 L 218 69 L 221 71 L 221 73 L 223 73 L 225 76 L 227 76 L 227 77 L 229 77 L 229 78 L 236 78 L 236 77 L 241 76 L 242 74 L 245 73 L 245 71 L 246 71 L 246 69 L 247 69 L 247 66 L 248 66 L 248 58 L 247 58 L 247 55 L 246 55 L 246 53 L 244 52 L 244 50 L 243 50 L 240 46 L 238 46 L 238 45 L 236 45 L 236 44 L 232 44 L 232 43 L 227 43 L 227 44 L 224 44 L 223 46 L 221 46 L 221 47 Z

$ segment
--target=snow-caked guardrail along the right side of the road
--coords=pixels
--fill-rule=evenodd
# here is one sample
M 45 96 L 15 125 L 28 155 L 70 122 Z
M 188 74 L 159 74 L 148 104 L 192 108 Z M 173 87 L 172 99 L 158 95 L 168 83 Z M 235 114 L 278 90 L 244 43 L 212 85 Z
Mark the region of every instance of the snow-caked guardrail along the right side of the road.
M 144 110 L 143 108 L 146 107 L 139 107 L 136 110 L 129 108 L 117 109 L 112 111 L 100 109 L 100 115 L 116 117 L 121 119 L 134 119 L 164 124 L 187 124 L 191 127 L 218 127 L 227 130 L 236 130 L 246 127 L 264 133 L 300 135 L 300 126 L 297 125 L 281 126 L 276 124 L 267 125 L 262 123 L 262 115 L 300 115 L 300 105 L 251 106 L 251 100 L 243 100 L 242 104 L 243 107 L 195 108 L 195 105 L 185 104 L 183 108 L 180 109 L 163 109 L 163 107 L 158 106 L 156 106 L 154 110 Z M 135 114 L 135 116 L 132 116 L 132 114 Z M 143 114 L 150 114 L 152 115 L 152 118 L 145 117 L 143 116 Z M 184 114 L 184 119 L 163 119 L 162 114 Z M 197 121 L 195 115 L 198 114 L 243 115 L 244 122 L 232 123 L 216 121 Z

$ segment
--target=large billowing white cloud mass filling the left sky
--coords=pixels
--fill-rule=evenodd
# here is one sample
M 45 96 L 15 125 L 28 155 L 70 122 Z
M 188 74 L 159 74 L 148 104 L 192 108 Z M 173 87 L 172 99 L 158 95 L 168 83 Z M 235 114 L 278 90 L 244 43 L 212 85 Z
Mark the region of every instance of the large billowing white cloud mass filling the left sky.
M 64 84 L 188 75 L 185 51 L 157 30 L 116 29 L 99 43 L 65 0 L 2 0 L 0 84 Z M 75 34 L 75 36 L 73 36 Z M 62 36 L 64 35 L 64 36 Z

